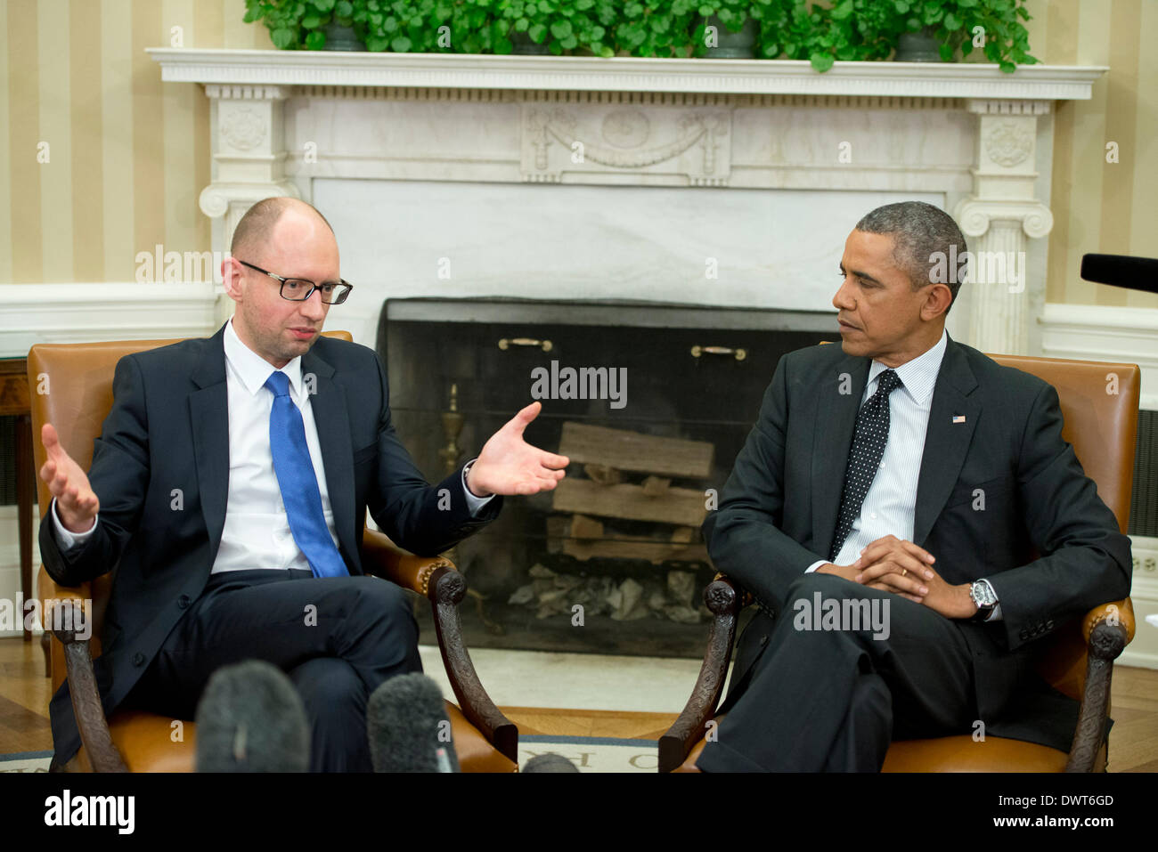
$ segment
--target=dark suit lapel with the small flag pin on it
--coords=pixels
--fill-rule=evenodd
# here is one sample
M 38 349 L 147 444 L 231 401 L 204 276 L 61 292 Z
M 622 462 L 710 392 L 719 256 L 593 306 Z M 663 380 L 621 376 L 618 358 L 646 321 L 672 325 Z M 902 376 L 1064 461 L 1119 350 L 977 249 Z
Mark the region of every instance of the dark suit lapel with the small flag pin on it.
M 924 546 L 933 521 L 945 507 L 965 464 L 973 432 L 981 418 L 981 403 L 969 396 L 976 387 L 977 380 L 966 360 L 965 350 L 951 338 L 937 373 L 917 478 L 913 522 L 913 542 L 917 546 Z

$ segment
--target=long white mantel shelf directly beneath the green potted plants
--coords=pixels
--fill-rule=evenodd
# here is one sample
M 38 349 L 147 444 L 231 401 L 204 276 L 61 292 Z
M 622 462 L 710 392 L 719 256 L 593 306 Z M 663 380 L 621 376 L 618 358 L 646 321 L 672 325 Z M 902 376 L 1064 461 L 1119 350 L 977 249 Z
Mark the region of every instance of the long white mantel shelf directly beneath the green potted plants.
M 1106 66 L 650 59 L 149 47 L 166 82 L 1089 100 Z

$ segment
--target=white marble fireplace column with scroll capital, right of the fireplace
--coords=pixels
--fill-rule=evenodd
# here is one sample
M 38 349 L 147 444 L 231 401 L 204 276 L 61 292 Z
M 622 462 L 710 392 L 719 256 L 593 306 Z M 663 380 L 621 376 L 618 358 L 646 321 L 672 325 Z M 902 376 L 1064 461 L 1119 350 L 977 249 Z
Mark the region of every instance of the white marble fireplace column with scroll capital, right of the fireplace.
M 966 286 L 973 311 L 969 343 L 982 352 L 1024 354 L 1027 346 L 1026 245 L 1054 227 L 1049 208 L 1034 198 L 1038 116 L 1049 101 L 970 100 L 979 116 L 973 194 L 954 218 L 969 237 Z

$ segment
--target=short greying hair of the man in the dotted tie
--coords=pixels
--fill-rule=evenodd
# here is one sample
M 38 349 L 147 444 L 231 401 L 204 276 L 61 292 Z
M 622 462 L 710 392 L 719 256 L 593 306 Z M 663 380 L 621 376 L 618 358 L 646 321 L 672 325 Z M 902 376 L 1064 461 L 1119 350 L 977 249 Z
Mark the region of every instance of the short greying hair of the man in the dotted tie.
M 947 263 L 947 258 L 953 255 L 965 259 L 965 252 L 968 250 L 965 235 L 953 221 L 953 216 L 940 207 L 924 201 L 897 201 L 878 207 L 857 222 L 857 230 L 867 234 L 888 234 L 895 240 L 893 259 L 909 277 L 913 289 L 921 289 L 935 282 L 931 274 L 935 255 L 939 252 Z M 955 251 L 951 251 L 951 247 L 954 245 Z M 950 272 L 944 284 L 953 296 L 953 301 L 945 309 L 947 314 L 957 302 L 957 292 L 961 287 L 957 270 Z

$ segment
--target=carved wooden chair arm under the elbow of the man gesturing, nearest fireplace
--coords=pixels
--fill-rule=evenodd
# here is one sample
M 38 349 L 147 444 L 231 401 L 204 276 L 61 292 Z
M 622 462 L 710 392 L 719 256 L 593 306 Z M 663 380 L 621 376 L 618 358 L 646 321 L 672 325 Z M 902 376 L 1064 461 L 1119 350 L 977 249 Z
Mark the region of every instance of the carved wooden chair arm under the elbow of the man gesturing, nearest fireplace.
M 462 714 L 491 746 L 518 763 L 519 729 L 486 695 L 462 640 L 459 603 L 467 594 L 467 581 L 462 574 L 445 557 L 403 553 L 384 535 L 369 529 L 362 538 L 362 559 L 369 573 L 430 600 L 439 652 Z

